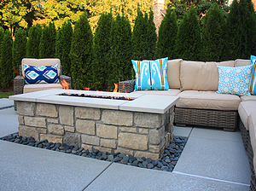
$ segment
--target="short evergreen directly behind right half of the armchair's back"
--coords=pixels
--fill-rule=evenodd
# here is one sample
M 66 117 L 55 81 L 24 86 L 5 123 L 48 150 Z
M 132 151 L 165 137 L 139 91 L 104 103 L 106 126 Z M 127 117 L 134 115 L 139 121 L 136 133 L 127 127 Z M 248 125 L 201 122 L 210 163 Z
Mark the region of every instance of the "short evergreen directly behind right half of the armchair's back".
M 55 57 L 55 40 L 56 40 L 55 23 L 49 22 L 49 26 L 45 26 L 42 31 L 39 44 L 40 58 L 54 58 Z

